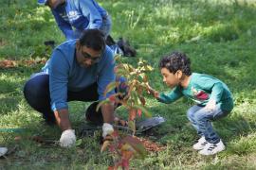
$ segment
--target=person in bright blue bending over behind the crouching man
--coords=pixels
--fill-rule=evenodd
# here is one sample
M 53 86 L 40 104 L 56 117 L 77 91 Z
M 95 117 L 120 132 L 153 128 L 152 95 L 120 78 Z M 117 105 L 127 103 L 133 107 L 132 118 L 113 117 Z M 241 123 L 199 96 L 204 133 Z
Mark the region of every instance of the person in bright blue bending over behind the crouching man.
M 85 29 L 100 29 L 105 38 L 110 34 L 110 16 L 95 0 L 38 0 L 38 4 L 51 9 L 66 40 L 78 39 Z

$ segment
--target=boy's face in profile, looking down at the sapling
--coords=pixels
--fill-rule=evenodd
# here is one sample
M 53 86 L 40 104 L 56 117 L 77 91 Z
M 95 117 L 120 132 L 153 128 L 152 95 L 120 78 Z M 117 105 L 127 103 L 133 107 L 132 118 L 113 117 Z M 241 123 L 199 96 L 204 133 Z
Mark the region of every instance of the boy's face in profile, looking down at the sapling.
M 175 74 L 171 73 L 167 68 L 161 68 L 161 74 L 163 76 L 163 82 L 170 88 L 174 88 L 180 83 L 181 71 L 177 71 Z

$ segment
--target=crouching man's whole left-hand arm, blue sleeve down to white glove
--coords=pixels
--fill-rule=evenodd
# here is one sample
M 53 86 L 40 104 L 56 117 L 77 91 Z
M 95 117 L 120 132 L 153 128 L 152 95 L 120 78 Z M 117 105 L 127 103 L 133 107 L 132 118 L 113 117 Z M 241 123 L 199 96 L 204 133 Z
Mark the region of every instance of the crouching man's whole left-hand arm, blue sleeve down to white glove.
M 60 145 L 64 147 L 76 143 L 75 130 L 71 129 L 66 103 L 68 70 L 69 64 L 64 59 L 64 54 L 59 49 L 54 50 L 49 65 L 49 90 L 51 109 L 54 111 L 58 126 L 63 130 Z

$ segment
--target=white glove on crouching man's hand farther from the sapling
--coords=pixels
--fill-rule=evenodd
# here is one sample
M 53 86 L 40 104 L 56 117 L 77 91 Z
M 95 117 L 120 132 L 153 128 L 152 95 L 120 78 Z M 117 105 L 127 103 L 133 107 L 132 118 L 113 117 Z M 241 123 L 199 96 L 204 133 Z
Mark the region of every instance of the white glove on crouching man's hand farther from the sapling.
M 63 131 L 60 139 L 60 145 L 62 147 L 71 147 L 76 144 L 75 130 L 67 129 Z

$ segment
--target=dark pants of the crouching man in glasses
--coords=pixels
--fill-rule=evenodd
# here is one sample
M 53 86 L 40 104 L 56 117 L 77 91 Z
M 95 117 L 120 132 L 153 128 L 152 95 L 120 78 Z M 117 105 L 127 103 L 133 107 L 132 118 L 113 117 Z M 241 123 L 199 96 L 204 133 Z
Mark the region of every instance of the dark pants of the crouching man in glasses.
M 67 92 L 68 101 L 97 101 L 99 94 L 98 85 L 94 83 L 80 92 Z M 31 76 L 24 87 L 24 95 L 27 103 L 34 109 L 43 113 L 46 123 L 55 124 L 56 119 L 50 107 L 49 76 L 46 73 L 39 73 Z M 92 103 L 86 110 L 86 119 L 96 124 L 102 123 L 101 110 L 96 111 L 98 102 Z

